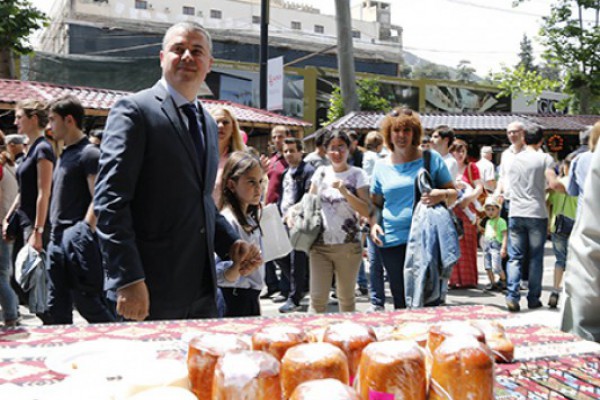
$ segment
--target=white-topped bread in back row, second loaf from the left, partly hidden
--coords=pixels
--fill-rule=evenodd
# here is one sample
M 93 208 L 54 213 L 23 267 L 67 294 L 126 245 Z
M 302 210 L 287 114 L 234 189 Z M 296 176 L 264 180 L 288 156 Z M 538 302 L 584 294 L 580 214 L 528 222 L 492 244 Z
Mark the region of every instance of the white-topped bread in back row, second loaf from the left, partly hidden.
M 308 338 L 304 331 L 290 325 L 267 326 L 252 335 L 254 350 L 266 351 L 279 361 L 290 347 L 307 342 Z

